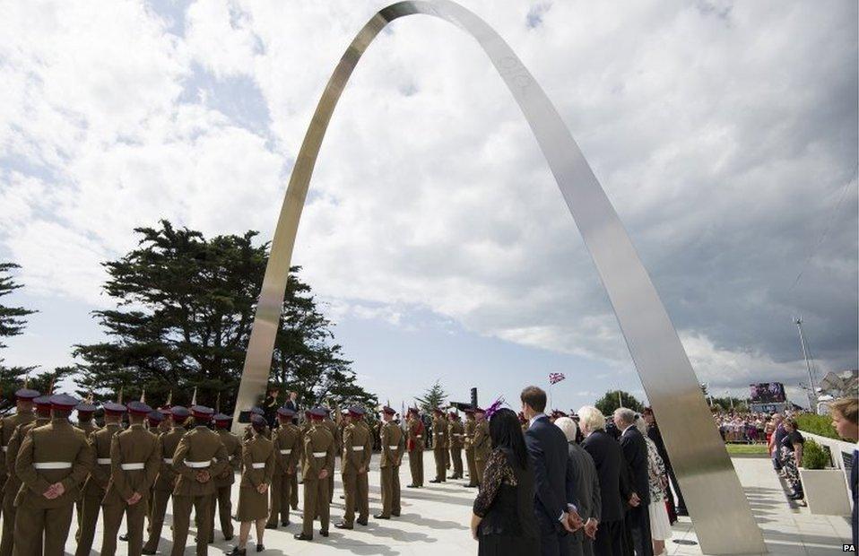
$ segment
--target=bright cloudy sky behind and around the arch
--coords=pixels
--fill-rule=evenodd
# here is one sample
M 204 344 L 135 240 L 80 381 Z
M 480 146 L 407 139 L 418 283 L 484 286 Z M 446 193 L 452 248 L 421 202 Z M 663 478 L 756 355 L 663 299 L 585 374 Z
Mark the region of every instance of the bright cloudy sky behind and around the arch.
M 370 0 L 0 2 L 6 364 L 100 338 L 100 262 L 160 218 L 268 239 L 310 115 Z M 567 122 L 714 394 L 857 366 L 857 4 L 464 0 Z M 371 391 L 645 396 L 530 129 L 426 16 L 361 60 L 293 263 Z M 799 280 L 797 281 L 797 277 Z M 514 406 L 517 406 L 514 403 Z

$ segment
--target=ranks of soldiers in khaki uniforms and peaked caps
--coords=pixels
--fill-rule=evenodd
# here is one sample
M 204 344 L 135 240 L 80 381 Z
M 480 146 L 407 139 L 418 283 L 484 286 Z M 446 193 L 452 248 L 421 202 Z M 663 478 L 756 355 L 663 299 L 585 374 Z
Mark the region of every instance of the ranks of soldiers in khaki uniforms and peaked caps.
M 16 404 L 17 412 L 0 421 L 4 451 L 0 458 L 0 479 L 4 479 L 0 489 L 0 556 L 41 554 L 43 550 L 45 554 L 63 554 L 74 506 L 78 516 L 76 555 L 90 553 L 100 514 L 104 520 L 102 554 L 116 552 L 123 517 L 127 534 L 120 538 L 128 542 L 128 553 L 154 554 L 171 499 L 172 554 L 178 556 L 185 550 L 192 509 L 196 553 L 205 554 L 207 544 L 214 540 L 216 513 L 220 513 L 224 538 L 233 537 L 230 495 L 237 472 L 242 472 L 239 506 L 242 492 L 251 486 L 246 476 L 256 473 L 262 477 L 257 483 L 266 481 L 265 491 L 270 497 L 265 497 L 265 528 L 277 528 L 279 521 L 281 526 L 290 525 L 290 509 L 298 507 L 300 469 L 303 523 L 295 538 L 311 540 L 315 519 L 320 521 L 320 534 L 327 536 L 335 456 L 342 459 L 345 498 L 343 519 L 335 527 L 351 529 L 355 522 L 368 523 L 373 435 L 360 407 L 349 409 L 342 426 L 332 421 L 326 408 L 316 408 L 305 413 L 307 419 L 301 427 L 296 424 L 295 411 L 282 407 L 277 410 L 275 430 L 265 426 L 263 411 L 254 408 L 251 413 L 263 427 L 255 434 L 256 428 L 248 426 L 244 438 L 239 439 L 229 430 L 230 416 L 213 414 L 213 409 L 202 405 L 193 405 L 190 410 L 178 405 L 152 410 L 143 402 L 106 403 L 102 405 L 105 426 L 98 428 L 92 421 L 95 406 L 79 403 L 71 396 L 40 396 L 25 387 L 16 392 Z M 68 420 L 75 409 L 77 427 Z M 409 411 L 403 429 L 394 421 L 392 408 L 384 407 L 381 413 L 382 510 L 374 517 L 390 519 L 400 514 L 399 467 L 405 453 L 412 470 L 409 486 L 423 486 L 423 435 L 429 431 L 423 430 L 416 408 Z M 488 423 L 482 410 L 466 410 L 464 424 L 456 415 L 446 418 L 440 410 L 435 413 L 431 434 L 436 440 L 437 473 L 432 482 L 446 480 L 445 470 L 451 460 L 452 478 L 463 478 L 461 450 L 465 449 L 469 486 L 477 486 L 490 451 Z M 123 430 L 126 414 L 130 426 Z M 191 430 L 187 430 L 189 417 L 195 424 Z M 210 421 L 214 430 L 208 427 Z M 249 446 L 256 437 L 272 443 L 271 469 L 265 462 L 247 465 Z M 257 473 L 257 469 L 264 471 Z M 149 522 L 145 543 L 144 519 Z M 261 538 L 258 540 L 261 550 Z

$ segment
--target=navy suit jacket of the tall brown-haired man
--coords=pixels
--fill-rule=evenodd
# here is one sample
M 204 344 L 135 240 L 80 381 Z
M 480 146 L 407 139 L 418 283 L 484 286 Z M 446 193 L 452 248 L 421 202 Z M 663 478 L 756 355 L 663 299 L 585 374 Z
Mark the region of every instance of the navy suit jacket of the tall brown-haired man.
M 567 505 L 578 507 L 573 463 L 564 432 L 542 416 L 525 431 L 525 445 L 534 465 L 534 513 L 541 528 L 561 528 L 558 518 Z

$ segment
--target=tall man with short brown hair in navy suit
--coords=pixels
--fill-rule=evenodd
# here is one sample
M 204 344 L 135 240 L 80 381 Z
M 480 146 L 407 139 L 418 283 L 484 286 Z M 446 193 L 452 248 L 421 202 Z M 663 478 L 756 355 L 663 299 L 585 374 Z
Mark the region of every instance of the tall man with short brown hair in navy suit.
M 525 445 L 534 465 L 534 514 L 540 527 L 542 556 L 569 552 L 569 533 L 582 526 L 577 513 L 576 482 L 567 453 L 567 437 L 543 413 L 546 393 L 526 387 L 520 395 L 522 413 L 529 420 Z

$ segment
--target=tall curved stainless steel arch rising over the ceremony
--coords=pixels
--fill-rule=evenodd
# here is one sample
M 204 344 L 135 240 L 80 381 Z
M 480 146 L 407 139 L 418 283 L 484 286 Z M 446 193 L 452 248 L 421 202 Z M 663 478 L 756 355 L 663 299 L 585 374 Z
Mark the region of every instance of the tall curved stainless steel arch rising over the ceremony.
M 659 418 L 701 548 L 713 554 L 766 552 L 680 338 L 603 187 L 551 101 L 513 50 L 486 22 L 449 0 L 409 0 L 387 6 L 360 30 L 334 69 L 292 169 L 274 231 L 234 422 L 238 423 L 239 409 L 255 404 L 265 391 L 299 218 L 337 100 L 378 32 L 389 22 L 416 13 L 454 23 L 477 39 L 525 114 L 612 301 Z

